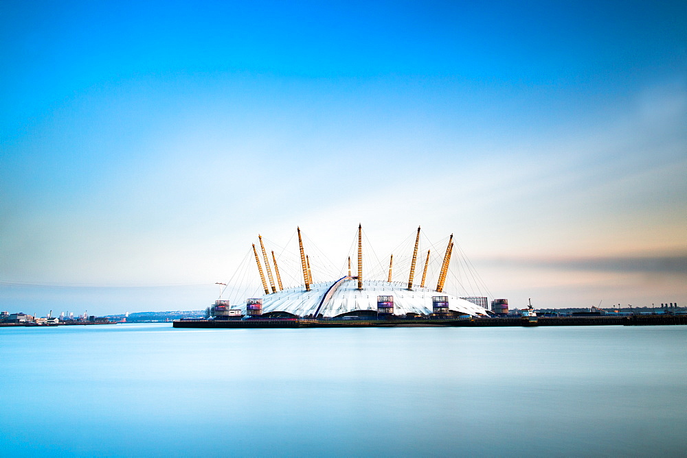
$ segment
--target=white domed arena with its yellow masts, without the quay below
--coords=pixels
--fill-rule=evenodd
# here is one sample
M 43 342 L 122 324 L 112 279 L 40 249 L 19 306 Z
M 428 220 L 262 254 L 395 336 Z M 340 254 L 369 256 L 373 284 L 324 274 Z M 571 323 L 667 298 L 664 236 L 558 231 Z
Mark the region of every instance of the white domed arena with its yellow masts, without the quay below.
M 274 251 L 271 259 L 267 256 L 262 236 L 258 235 L 260 250 L 252 245 L 252 256 L 255 259 L 260 276 L 261 297 L 247 298 L 245 302 L 229 306 L 228 300 L 215 302 L 214 318 L 216 320 L 257 319 L 257 318 L 307 318 L 315 320 L 355 320 L 370 317 L 487 317 L 486 298 L 459 298 L 444 292 L 451 253 L 453 251 L 453 234 L 449 237 L 443 253 L 443 261 L 438 272 L 435 287 L 426 287 L 427 265 L 430 252 L 423 256 L 423 272 L 420 283 L 415 274 L 418 263 L 420 228 L 418 227 L 412 261 L 407 272 L 407 281 L 392 281 L 394 255 L 389 258 L 388 275 L 381 279 L 363 278 L 363 232 L 362 226 L 357 230 L 357 272 L 352 275 L 351 258 L 348 257 L 348 274 L 326 281 L 313 281 L 310 256 L 304 250 L 303 237 L 297 228 L 298 257 L 302 282 L 295 287 L 282 287 L 280 269 Z M 260 256 L 262 254 L 262 256 Z M 275 272 L 275 283 L 272 272 Z M 386 272 L 385 272 L 386 273 Z M 223 285 L 223 284 L 221 284 Z

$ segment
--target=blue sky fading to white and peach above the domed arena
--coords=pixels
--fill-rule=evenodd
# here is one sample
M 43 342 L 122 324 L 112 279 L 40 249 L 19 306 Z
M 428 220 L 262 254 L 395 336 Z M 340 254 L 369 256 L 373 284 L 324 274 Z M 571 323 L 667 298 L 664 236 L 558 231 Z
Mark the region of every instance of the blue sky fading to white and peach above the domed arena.
M 0 21 L 3 309 L 201 309 L 258 232 L 300 225 L 338 259 L 359 222 L 378 252 L 455 233 L 516 305 L 687 303 L 684 2 L 3 1 Z

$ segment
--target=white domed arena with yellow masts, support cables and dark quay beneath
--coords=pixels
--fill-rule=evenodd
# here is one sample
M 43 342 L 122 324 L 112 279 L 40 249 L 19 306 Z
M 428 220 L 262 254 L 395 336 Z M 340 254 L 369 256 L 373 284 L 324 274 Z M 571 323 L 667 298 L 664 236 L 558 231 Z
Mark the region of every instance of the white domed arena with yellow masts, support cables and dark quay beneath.
M 280 256 L 276 256 L 274 251 L 268 256 L 264 241 L 258 236 L 259 249 L 255 243 L 252 245 L 242 263 L 243 274 L 237 272 L 232 277 L 233 281 L 217 283 L 221 286 L 220 298 L 207 310 L 207 320 L 179 320 L 174 322 L 174 327 L 384 326 L 409 322 L 421 326 L 423 322 L 488 317 L 490 312 L 486 309 L 486 297 L 461 298 L 444 292 L 454 247 L 453 234 L 443 252 L 433 258 L 431 247 L 434 245 L 431 243 L 425 243 L 425 248 L 430 248 L 426 254 L 423 248 L 423 256 L 419 256 L 420 228 L 414 235 L 412 250 L 412 237 L 409 237 L 408 246 L 405 247 L 408 252 L 412 251 L 412 256 L 397 255 L 396 279 L 394 254 L 384 258 L 388 262 L 383 263 L 383 270 L 378 259 L 376 268 L 373 266 L 368 273 L 372 278 L 365 278 L 363 230 L 358 226 L 357 256 L 348 256 L 339 272 L 316 269 L 318 275 L 330 276 L 324 281 L 313 280 L 311 256 L 304 249 L 300 228 L 297 229 L 297 253 L 289 253 L 282 248 Z M 354 250 L 353 247 L 354 244 L 349 254 Z M 321 254 L 318 250 L 311 250 L 318 259 L 326 258 L 324 255 L 317 256 Z M 376 255 L 368 257 L 376 258 Z M 398 267 L 399 257 L 401 267 Z M 247 269 L 249 264 L 252 265 L 251 269 Z M 431 266 L 433 268 L 428 276 Z M 293 275 L 294 272 L 297 272 L 297 276 Z M 377 278 L 374 278 L 375 274 Z M 282 287 L 284 276 L 300 284 Z M 403 280 L 399 281 L 400 276 Z M 260 287 L 256 289 L 256 282 L 251 280 L 257 277 L 260 278 Z M 239 281 L 238 278 L 243 280 Z M 430 280 L 436 281 L 436 284 L 432 282 L 430 286 Z M 242 287 L 244 283 L 246 286 Z M 254 288 L 252 293 L 249 292 L 251 285 Z M 224 293 L 228 293 L 229 299 L 222 299 Z

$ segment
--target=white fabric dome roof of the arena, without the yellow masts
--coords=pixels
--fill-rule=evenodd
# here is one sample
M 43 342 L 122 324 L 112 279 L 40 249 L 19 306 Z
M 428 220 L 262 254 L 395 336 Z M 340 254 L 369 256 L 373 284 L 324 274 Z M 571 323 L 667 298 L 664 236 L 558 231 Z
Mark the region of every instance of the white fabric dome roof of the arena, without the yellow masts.
M 311 285 L 311 291 L 305 291 L 302 286 L 284 289 L 262 296 L 262 313 L 281 311 L 303 317 L 317 312 L 324 317 L 334 317 L 355 310 L 376 311 L 377 296 L 394 296 L 394 315 L 428 315 L 432 313 L 432 296 L 446 296 L 451 311 L 473 316 L 487 314 L 482 307 L 447 293 L 429 288 L 409 291 L 405 282 L 363 280 L 362 291 L 357 287 L 357 279 L 344 277 L 335 282 L 315 283 Z M 245 311 L 245 304 L 242 309 Z

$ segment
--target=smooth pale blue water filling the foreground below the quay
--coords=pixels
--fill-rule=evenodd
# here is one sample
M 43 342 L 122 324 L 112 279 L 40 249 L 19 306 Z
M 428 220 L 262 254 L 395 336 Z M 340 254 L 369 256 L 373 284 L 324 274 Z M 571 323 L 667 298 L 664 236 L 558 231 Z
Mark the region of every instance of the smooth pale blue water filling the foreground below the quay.
M 687 326 L 0 328 L 2 456 L 678 456 Z

